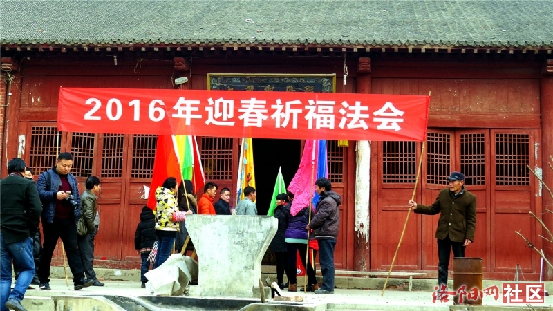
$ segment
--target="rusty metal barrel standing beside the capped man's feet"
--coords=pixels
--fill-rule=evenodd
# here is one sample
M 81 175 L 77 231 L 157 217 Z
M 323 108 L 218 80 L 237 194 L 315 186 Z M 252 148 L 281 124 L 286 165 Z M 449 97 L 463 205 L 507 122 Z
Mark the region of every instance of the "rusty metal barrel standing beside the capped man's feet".
M 456 305 L 482 305 L 482 258 L 453 258 L 453 290 Z

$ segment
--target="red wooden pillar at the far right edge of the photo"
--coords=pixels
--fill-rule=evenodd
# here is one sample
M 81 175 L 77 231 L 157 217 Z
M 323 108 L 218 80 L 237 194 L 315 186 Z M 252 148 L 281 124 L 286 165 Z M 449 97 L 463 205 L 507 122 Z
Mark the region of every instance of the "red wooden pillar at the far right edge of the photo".
M 553 59 L 548 59 L 541 77 L 541 141 L 543 159 L 543 182 L 548 187 L 553 188 L 553 170 L 547 165 L 552 163 L 550 156 L 553 156 Z M 544 209 L 553 209 L 553 198 L 543 189 L 542 191 L 542 206 Z M 550 230 L 553 229 L 553 215 L 543 213 L 543 222 Z M 544 241 L 543 251 L 545 256 L 551 261 L 553 257 L 553 244 Z M 545 281 L 553 280 L 553 269 L 544 264 Z

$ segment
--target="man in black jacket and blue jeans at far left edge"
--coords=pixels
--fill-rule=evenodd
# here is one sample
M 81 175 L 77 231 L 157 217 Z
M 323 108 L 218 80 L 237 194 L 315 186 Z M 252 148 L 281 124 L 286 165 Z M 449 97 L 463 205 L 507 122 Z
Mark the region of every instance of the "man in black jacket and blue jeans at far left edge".
M 18 311 L 25 310 L 21 300 L 35 276 L 32 236 L 38 230 L 42 213 L 35 182 L 23 177 L 25 167 L 21 158 L 13 158 L 8 162 L 10 176 L 0 181 L 0 305 Z M 10 292 L 12 259 L 20 273 Z

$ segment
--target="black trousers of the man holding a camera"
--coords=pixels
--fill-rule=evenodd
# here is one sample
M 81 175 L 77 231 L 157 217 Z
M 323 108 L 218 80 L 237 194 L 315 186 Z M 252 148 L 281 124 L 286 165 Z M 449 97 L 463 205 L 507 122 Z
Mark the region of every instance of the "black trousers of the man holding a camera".
M 44 233 L 44 245 L 42 245 L 42 256 L 40 256 L 39 280 L 41 283 L 50 282 L 50 264 L 52 255 L 56 248 L 57 240 L 62 238 L 65 254 L 73 282 L 83 279 L 83 267 L 79 249 L 77 249 L 77 225 L 75 218 L 54 218 L 53 223 L 42 222 Z

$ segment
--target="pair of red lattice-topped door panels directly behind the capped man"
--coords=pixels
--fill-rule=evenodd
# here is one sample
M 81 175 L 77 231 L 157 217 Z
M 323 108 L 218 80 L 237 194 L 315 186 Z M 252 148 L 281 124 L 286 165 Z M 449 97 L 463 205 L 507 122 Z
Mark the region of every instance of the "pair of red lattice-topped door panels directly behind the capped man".
M 438 192 L 447 187 L 451 171 L 465 174 L 465 189 L 477 198 L 475 240 L 465 255 L 482 258 L 483 271 L 489 270 L 489 153 L 488 129 L 431 129 L 427 133 L 426 165 L 422 174 L 421 204 L 424 205 L 431 205 Z M 439 218 L 440 214 L 422 216 L 422 270 L 438 269 L 435 228 Z

